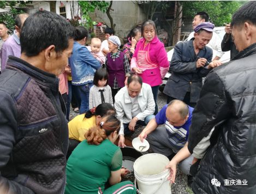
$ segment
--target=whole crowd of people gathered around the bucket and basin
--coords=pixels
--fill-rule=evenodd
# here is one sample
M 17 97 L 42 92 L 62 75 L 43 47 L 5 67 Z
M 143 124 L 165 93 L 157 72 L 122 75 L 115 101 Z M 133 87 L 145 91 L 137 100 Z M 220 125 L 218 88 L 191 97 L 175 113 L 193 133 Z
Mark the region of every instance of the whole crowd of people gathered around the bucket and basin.
M 223 40 L 195 14 L 170 62 L 151 20 L 123 48 L 111 28 L 86 46 L 86 28 L 49 11 L 17 15 L 13 35 L 0 22 L 0 193 L 136 193 L 120 147 L 139 125 L 171 183 L 178 167 L 194 193 L 255 193 L 255 10 L 237 10 Z

